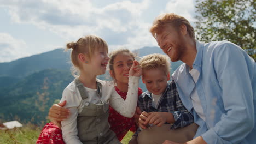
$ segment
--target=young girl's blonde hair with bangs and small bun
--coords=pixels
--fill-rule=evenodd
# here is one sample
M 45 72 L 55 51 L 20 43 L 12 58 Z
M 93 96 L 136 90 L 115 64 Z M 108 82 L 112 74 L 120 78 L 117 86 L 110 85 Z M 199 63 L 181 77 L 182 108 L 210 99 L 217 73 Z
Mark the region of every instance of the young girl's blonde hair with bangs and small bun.
M 79 64 L 79 53 L 83 53 L 90 60 L 93 53 L 100 48 L 106 49 L 108 52 L 108 45 L 106 41 L 95 35 L 86 35 L 85 37 L 78 39 L 77 42 L 68 43 L 66 50 L 72 49 L 70 55 L 72 64 L 74 66 L 72 68 L 72 75 L 77 76 L 75 73 L 79 74 L 80 69 L 82 68 L 82 66 Z

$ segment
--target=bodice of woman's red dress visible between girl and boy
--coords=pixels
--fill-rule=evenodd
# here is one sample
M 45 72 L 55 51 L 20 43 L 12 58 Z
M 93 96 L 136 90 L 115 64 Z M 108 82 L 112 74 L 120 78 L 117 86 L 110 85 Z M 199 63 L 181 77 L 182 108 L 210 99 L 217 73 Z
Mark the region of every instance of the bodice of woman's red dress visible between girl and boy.
M 117 87 L 115 91 L 125 100 L 127 92 L 121 92 Z M 142 89 L 138 88 L 138 96 L 142 94 Z M 121 141 L 126 133 L 130 130 L 135 132 L 137 130 L 134 118 L 127 118 L 116 112 L 111 106 L 109 106 L 109 117 L 108 123 L 110 124 L 110 129 L 115 132 L 118 140 Z

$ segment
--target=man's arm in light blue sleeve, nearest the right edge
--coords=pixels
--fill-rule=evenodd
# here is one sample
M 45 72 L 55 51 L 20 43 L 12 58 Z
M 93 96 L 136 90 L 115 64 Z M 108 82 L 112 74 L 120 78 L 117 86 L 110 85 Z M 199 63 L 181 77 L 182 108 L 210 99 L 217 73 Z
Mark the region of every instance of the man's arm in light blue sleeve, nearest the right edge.
M 207 143 L 238 143 L 254 127 L 253 89 L 245 53 L 233 44 L 213 52 L 213 64 L 222 91 L 225 113 L 211 129 L 202 134 Z

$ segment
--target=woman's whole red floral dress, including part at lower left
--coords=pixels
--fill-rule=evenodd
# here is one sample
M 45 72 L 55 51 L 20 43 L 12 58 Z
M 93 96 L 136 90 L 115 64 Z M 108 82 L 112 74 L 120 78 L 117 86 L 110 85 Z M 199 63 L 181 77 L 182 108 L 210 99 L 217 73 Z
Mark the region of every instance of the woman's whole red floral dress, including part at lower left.
M 115 91 L 125 100 L 126 92 L 121 92 L 117 87 Z M 141 88 L 138 88 L 138 96 L 142 94 Z M 109 117 L 108 122 L 110 124 L 110 129 L 115 132 L 118 140 L 121 141 L 125 134 L 130 129 L 131 131 L 136 131 L 136 124 L 134 118 L 127 118 L 121 116 L 112 107 L 109 106 Z M 53 123 L 46 123 L 43 127 L 36 144 L 65 144 L 62 139 L 62 132 L 57 125 Z

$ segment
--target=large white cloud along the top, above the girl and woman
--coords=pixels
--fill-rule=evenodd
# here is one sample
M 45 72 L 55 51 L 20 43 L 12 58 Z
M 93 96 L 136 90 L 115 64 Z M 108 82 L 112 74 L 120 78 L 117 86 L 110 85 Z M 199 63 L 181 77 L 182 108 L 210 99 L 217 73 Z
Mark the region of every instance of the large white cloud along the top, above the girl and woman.
M 113 32 L 127 31 L 130 21 L 147 8 L 148 2 L 115 2 L 102 8 L 97 8 L 90 1 L 79 0 L 2 1 L 1 5 L 9 8 L 15 22 L 33 23 L 70 39 L 84 33 L 100 33 L 105 28 Z

